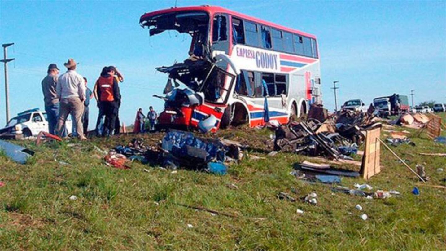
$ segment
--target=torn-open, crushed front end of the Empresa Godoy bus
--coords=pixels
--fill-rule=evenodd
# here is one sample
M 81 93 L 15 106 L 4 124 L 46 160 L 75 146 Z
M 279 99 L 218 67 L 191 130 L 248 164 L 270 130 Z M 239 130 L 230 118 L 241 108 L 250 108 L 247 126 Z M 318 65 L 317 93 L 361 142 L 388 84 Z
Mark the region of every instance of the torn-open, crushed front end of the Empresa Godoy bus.
M 191 36 L 189 58 L 169 67 L 157 67 L 169 75 L 163 91 L 165 110 L 158 118 L 158 127 L 200 127 L 217 130 L 237 71 L 226 55 L 212 57 L 209 46 L 210 13 L 205 10 L 172 8 L 146 13 L 140 25 L 155 35 L 176 30 Z M 227 68 L 232 66 L 232 68 Z

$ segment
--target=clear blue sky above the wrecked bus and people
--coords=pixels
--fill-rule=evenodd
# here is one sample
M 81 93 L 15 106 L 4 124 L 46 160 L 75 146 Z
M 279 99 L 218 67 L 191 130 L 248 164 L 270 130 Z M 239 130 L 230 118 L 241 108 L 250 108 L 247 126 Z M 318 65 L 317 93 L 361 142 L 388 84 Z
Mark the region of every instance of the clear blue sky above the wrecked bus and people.
M 133 122 L 136 109 L 158 111 L 167 75 L 155 67 L 186 59 L 190 38 L 176 33 L 149 37 L 139 17 L 173 6 L 169 1 L 8 1 L 0 0 L 0 43 L 9 48 L 11 114 L 43 108 L 41 79 L 48 64 L 74 58 L 91 87 L 103 66 L 124 74 L 120 117 Z M 323 101 L 339 103 L 393 92 L 415 102 L 446 103 L 446 1 L 186 1 L 178 6 L 220 5 L 277 24 L 313 33 L 321 55 Z M 3 58 L 3 55 L 1 55 Z M 5 123 L 4 75 L 0 67 L 0 126 Z M 91 121 L 97 109 L 91 104 Z M 93 122 L 90 123 L 90 128 Z

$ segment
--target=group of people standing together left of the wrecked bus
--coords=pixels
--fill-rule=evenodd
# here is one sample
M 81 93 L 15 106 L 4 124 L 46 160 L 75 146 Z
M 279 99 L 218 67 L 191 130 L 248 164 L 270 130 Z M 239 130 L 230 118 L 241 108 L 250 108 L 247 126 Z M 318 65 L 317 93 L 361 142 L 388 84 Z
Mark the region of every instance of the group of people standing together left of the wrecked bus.
M 87 88 L 87 78 L 76 72 L 77 63 L 69 59 L 64 66 L 67 71 L 59 74 L 59 68 L 52 63 L 48 67 L 48 75 L 42 80 L 42 92 L 45 101 L 48 129 L 50 134 L 66 137 L 65 122 L 68 115 L 73 118 L 73 135 L 81 140 L 87 139 L 84 134 L 88 128 L 89 104 L 92 96 L 99 108 L 96 123 L 96 134 L 109 136 L 119 133 L 119 107 L 121 95 L 118 82 L 124 77 L 116 67 L 103 67 L 93 92 Z

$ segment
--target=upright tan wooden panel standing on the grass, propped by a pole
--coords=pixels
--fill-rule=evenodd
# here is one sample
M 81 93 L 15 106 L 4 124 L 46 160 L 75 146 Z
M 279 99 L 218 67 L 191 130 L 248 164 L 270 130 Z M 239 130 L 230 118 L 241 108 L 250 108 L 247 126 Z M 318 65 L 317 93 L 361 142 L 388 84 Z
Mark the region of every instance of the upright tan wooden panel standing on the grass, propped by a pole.
M 360 174 L 365 180 L 368 180 L 370 177 L 381 172 L 379 142 L 380 134 L 380 127 L 366 131 L 365 150 L 360 170 Z

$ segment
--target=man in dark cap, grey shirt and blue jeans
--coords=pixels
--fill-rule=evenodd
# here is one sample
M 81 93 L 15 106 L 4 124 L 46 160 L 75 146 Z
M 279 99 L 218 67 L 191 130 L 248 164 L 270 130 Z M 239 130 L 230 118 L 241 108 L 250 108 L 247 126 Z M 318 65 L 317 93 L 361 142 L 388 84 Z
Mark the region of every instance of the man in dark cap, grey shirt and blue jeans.
M 56 92 L 59 68 L 55 63 L 48 66 L 48 75 L 42 80 L 43 100 L 48 120 L 48 132 L 54 134 L 59 116 L 59 98 Z

